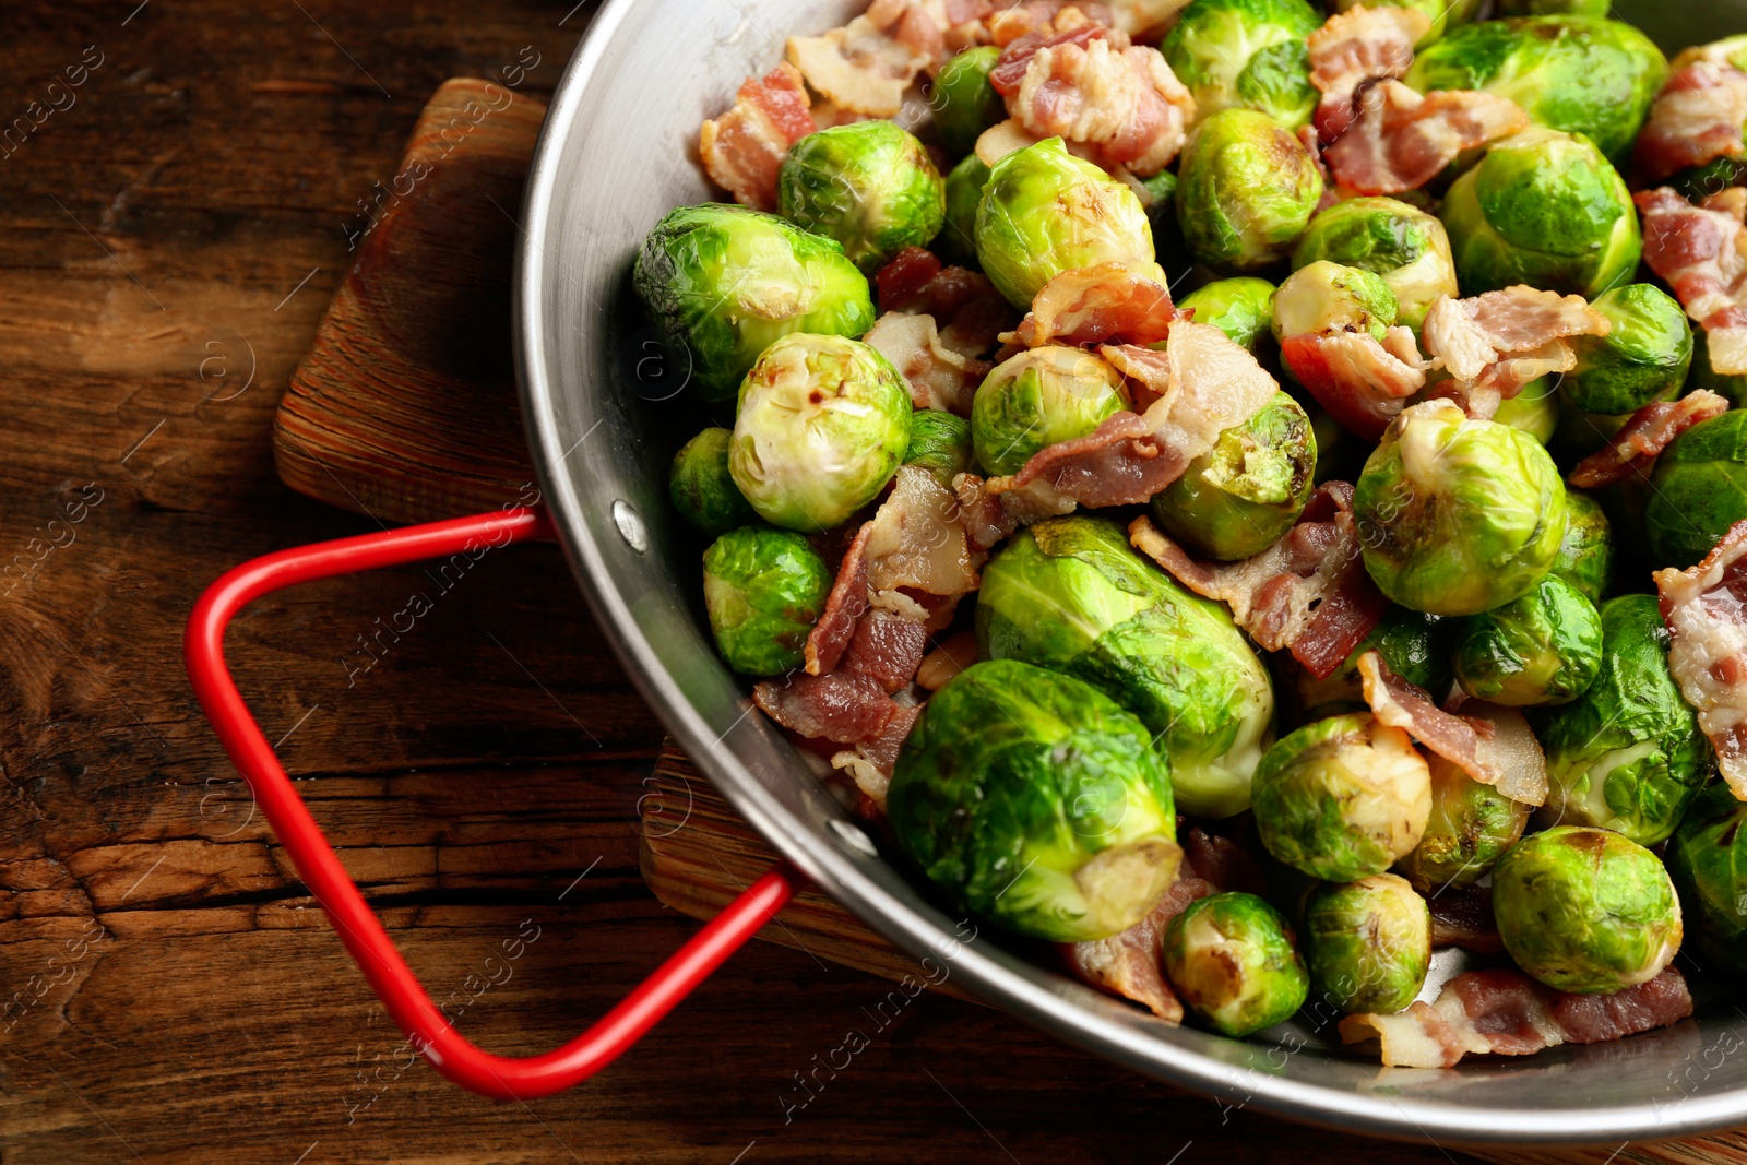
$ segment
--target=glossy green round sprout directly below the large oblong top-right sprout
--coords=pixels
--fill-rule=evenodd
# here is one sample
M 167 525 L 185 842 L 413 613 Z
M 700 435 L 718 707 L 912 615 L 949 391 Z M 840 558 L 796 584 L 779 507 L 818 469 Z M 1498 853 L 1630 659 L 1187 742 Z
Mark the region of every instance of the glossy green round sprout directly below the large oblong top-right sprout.
M 1595 299 L 1644 252 L 1619 173 L 1588 140 L 1551 129 L 1494 145 L 1455 180 L 1440 217 L 1469 295 L 1527 283 Z

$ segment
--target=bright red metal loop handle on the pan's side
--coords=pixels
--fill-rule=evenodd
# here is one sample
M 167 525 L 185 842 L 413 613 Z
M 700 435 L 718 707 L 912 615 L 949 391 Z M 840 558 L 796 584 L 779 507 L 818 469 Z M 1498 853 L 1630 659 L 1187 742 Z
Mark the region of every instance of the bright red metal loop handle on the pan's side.
M 238 566 L 208 587 L 194 604 L 183 638 L 189 679 L 218 741 L 248 779 L 255 802 L 292 854 L 297 875 L 334 920 L 334 929 L 383 1006 L 432 1067 L 463 1088 L 500 1100 L 550 1095 L 611 1064 L 776 917 L 804 884 L 802 875 L 786 863 L 772 866 L 618 1006 L 568 1044 L 526 1058 L 484 1051 L 454 1031 L 419 987 L 309 816 L 231 679 L 224 632 L 231 618 L 255 599 L 302 582 L 550 536 L 552 524 L 543 512 L 510 508 L 280 550 Z

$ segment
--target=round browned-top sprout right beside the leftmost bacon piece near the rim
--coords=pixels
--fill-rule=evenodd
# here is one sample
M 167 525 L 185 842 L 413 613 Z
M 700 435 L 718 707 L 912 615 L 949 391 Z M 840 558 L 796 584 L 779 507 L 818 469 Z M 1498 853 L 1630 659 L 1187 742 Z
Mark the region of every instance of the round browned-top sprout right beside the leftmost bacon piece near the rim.
M 783 217 L 844 245 L 865 274 L 907 246 L 928 246 L 947 192 L 928 148 L 889 121 L 832 126 L 797 141 L 776 176 Z

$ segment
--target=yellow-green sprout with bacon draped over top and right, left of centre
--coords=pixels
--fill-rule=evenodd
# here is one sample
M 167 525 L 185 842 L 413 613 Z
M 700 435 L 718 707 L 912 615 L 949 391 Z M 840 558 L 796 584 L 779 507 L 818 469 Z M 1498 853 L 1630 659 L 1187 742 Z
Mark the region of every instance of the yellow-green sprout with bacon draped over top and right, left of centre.
M 1031 348 L 996 365 L 971 400 L 971 442 L 991 477 L 1019 473 L 1031 454 L 1085 437 L 1129 407 L 1122 374 L 1080 348 Z

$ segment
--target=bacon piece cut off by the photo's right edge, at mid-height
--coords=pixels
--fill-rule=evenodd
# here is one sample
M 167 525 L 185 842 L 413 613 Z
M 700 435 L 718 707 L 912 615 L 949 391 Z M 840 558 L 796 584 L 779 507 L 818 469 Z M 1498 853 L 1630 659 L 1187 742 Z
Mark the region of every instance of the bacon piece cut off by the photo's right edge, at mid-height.
M 1717 769 L 1747 802 L 1747 520 L 1698 566 L 1653 575 L 1668 624 L 1668 671 L 1698 711 L 1698 727 L 1717 751 Z

